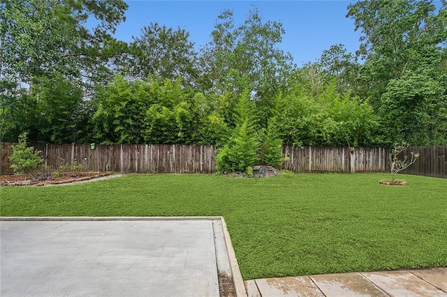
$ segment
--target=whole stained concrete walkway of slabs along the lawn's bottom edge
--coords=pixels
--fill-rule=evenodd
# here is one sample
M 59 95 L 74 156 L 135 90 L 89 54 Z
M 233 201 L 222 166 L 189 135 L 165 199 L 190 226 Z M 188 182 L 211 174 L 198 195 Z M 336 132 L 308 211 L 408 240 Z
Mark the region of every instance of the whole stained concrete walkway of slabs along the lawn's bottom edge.
M 447 296 L 447 268 L 247 280 L 249 297 Z

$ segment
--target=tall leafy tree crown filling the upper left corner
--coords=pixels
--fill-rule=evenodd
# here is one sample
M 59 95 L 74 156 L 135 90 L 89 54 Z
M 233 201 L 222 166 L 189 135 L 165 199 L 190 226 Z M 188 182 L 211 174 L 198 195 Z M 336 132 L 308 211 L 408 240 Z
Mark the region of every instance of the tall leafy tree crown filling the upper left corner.
M 122 0 L 5 0 L 1 6 L 1 77 L 31 84 L 57 70 L 91 77 L 99 62 L 126 50 L 111 33 L 125 20 Z M 98 24 L 87 29 L 87 18 Z

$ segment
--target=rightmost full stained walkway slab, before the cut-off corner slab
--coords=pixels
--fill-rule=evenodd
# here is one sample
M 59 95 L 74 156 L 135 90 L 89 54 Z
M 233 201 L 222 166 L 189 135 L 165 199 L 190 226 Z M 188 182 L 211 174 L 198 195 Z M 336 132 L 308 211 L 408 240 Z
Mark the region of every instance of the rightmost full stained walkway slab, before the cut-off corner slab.
M 444 291 L 437 289 L 408 271 L 383 271 L 362 273 L 362 275 L 390 296 L 447 296 Z

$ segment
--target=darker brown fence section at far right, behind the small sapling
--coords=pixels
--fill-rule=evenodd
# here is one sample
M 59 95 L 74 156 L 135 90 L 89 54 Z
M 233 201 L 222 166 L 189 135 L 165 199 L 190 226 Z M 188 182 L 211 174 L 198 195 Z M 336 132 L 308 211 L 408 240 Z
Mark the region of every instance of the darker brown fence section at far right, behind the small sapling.
M 447 178 L 447 146 L 411 146 L 401 158 L 411 158 L 411 152 L 419 153 L 419 158 L 402 173 Z

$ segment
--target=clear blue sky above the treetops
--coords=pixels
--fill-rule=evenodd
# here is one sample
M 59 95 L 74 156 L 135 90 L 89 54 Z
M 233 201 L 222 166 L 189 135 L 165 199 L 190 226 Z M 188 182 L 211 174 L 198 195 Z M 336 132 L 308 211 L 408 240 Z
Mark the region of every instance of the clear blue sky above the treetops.
M 126 1 L 126 22 L 119 24 L 115 37 L 129 42 L 140 36 L 150 22 L 190 33 L 196 48 L 210 41 L 214 22 L 222 10 L 234 11 L 236 24 L 247 18 L 255 6 L 264 21 L 281 22 L 286 30 L 281 50 L 290 52 L 298 66 L 316 61 L 323 50 L 342 43 L 348 52 L 358 50 L 361 33 L 345 17 L 351 1 Z

